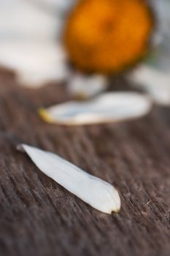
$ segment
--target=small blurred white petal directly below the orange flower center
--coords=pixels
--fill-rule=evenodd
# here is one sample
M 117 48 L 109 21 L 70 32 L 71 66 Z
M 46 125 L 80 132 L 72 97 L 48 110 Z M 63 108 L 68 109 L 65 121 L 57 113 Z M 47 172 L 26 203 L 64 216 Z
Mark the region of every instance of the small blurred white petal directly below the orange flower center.
M 68 88 L 74 97 L 87 99 L 107 89 L 107 78 L 104 75 L 85 76 L 78 73 L 69 78 Z

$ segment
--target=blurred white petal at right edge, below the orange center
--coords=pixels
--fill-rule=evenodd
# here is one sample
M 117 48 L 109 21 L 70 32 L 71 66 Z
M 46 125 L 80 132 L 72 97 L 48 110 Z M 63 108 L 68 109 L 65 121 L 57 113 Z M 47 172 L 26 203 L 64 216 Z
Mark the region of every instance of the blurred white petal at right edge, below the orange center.
M 170 105 L 170 75 L 161 70 L 142 65 L 135 69 L 128 79 L 144 88 L 150 97 L 161 105 Z

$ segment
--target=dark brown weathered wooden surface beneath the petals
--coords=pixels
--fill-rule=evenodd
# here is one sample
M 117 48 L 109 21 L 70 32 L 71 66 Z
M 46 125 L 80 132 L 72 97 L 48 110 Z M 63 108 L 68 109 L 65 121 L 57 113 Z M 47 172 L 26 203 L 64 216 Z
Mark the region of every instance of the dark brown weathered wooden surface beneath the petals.
M 45 124 L 64 86 L 17 86 L 0 72 L 0 255 L 170 255 L 170 110 L 121 124 Z M 15 150 L 25 142 L 69 159 L 120 191 L 120 214 L 90 208 Z

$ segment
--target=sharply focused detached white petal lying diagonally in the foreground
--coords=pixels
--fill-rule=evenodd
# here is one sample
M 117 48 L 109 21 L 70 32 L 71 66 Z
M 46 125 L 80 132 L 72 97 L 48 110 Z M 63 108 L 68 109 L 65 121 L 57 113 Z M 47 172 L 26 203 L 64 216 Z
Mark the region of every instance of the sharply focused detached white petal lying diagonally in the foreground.
M 120 196 L 106 181 L 91 176 L 56 154 L 24 144 L 18 149 L 26 151 L 43 173 L 93 208 L 106 214 L 120 211 Z

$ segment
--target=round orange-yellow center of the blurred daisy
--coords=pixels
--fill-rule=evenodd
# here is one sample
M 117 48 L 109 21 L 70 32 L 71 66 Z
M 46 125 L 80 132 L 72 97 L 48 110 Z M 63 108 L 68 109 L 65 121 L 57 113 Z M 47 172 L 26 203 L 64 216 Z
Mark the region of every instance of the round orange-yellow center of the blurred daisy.
M 81 0 L 63 39 L 72 63 L 85 72 L 120 72 L 147 53 L 153 18 L 144 0 Z

